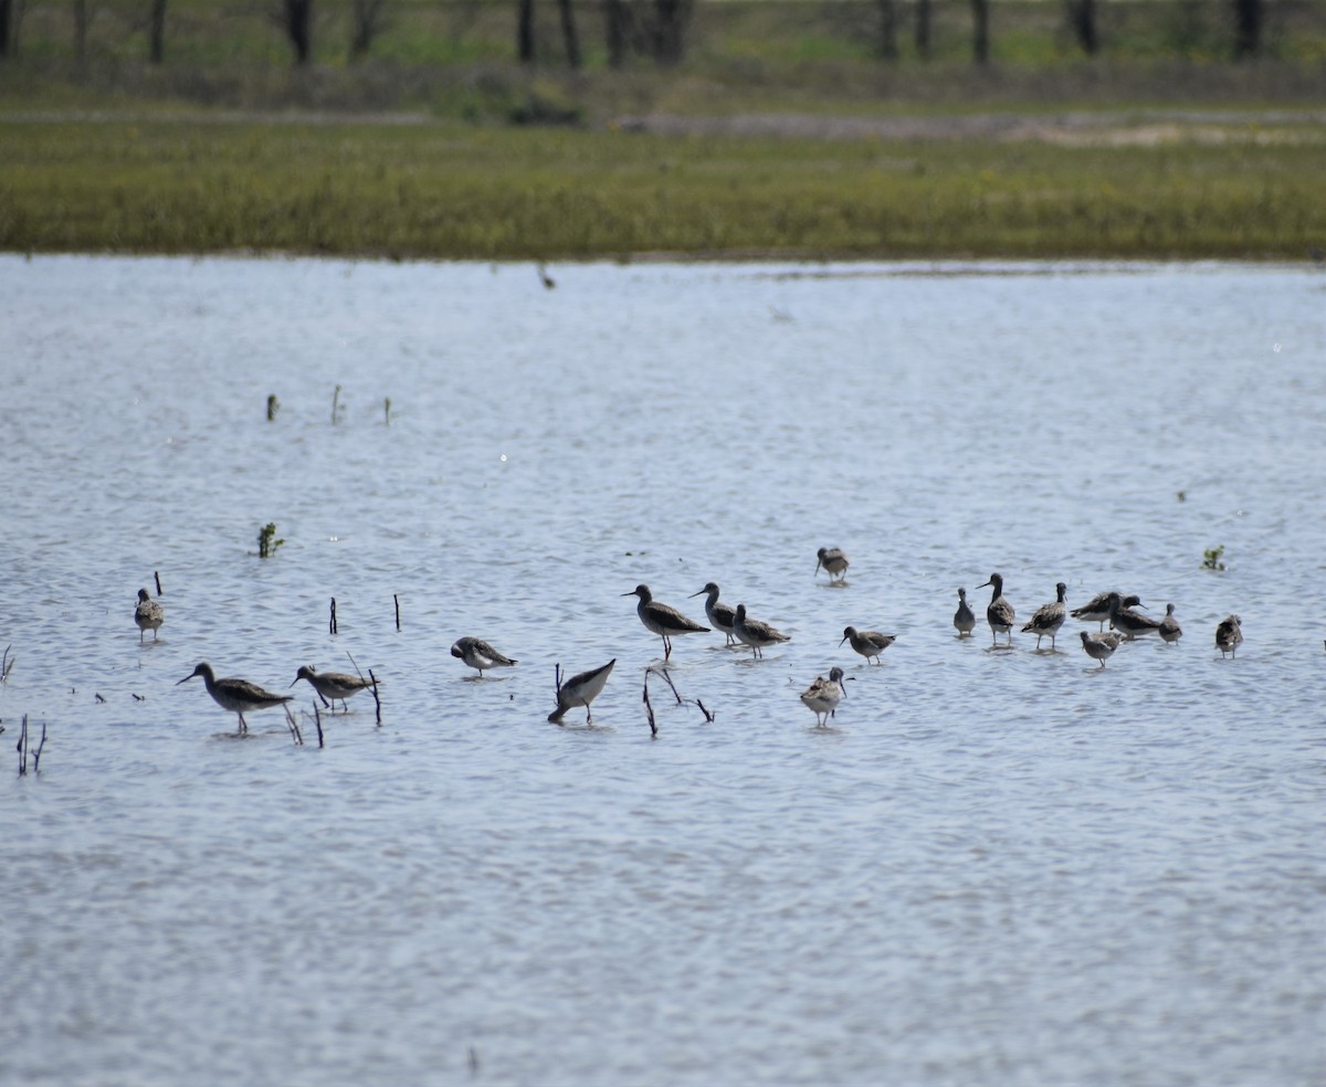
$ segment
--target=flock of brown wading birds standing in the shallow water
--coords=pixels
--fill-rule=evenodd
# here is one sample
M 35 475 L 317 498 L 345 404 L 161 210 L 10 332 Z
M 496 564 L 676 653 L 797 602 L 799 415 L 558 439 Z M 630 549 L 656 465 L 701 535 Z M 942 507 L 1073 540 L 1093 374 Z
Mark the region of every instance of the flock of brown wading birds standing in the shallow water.
M 823 569 L 829 574 L 830 582 L 846 583 L 850 562 L 841 547 L 821 547 L 817 558 L 817 574 Z M 1004 597 L 1004 577 L 1001 574 L 991 574 L 988 582 L 977 586 L 977 589 L 987 587 L 993 589 L 989 606 L 985 608 L 985 622 L 989 623 L 992 644 L 998 646 L 998 636 L 1002 634 L 1008 638 L 1005 644 L 1012 647 L 1016 612 L 1013 611 L 1013 604 Z M 1038 607 L 1032 614 L 1030 620 L 1022 627 L 1022 634 L 1036 635 L 1037 650 L 1041 648 L 1041 639 L 1049 638 L 1050 650 L 1054 651 L 1055 636 L 1063 626 L 1065 619 L 1070 615 L 1074 619 L 1099 624 L 1097 632 L 1078 631 L 1078 636 L 1082 639 L 1082 648 L 1086 651 L 1086 655 L 1093 660 L 1098 660 L 1102 668 L 1122 642 L 1131 642 L 1147 634 L 1158 634 L 1164 642 L 1174 644 L 1183 636 L 1183 628 L 1179 626 L 1179 620 L 1174 618 L 1174 604 L 1166 606 L 1164 619 L 1154 619 L 1150 615 L 1135 611 L 1138 607 L 1144 607 L 1136 595 L 1101 593 L 1082 604 L 1082 607 L 1069 611 L 1065 603 L 1067 586 L 1059 582 L 1055 590 L 1057 599 Z M 650 593 L 647 585 L 638 585 L 630 593 L 623 593 L 622 595 L 638 598 L 635 614 L 640 616 L 640 622 L 647 630 L 663 639 L 664 661 L 672 656 L 672 639 L 683 634 L 708 634 L 712 630 L 719 630 L 727 635 L 729 646 L 749 646 L 752 655 L 756 658 L 764 656 L 766 647 L 788 640 L 788 635 L 774 630 L 768 623 L 749 618 L 745 604 L 737 604 L 733 608 L 729 604 L 721 603 L 719 601 L 719 586 L 713 582 L 708 582 L 699 593 L 691 594 L 692 597 L 704 595 L 704 614 L 713 624 L 712 627 L 705 627 L 687 618 L 675 607 L 659 603 L 654 599 L 654 594 Z M 156 631 L 164 619 L 166 615 L 162 606 L 151 599 L 146 589 L 139 589 L 138 607 L 134 610 L 134 622 L 138 623 L 138 640 L 142 642 L 143 634 L 147 631 L 151 631 L 155 639 Z M 1105 630 L 1106 623 L 1110 624 L 1110 630 Z M 972 631 L 976 630 L 976 614 L 972 611 L 971 604 L 967 603 L 965 589 L 957 590 L 957 611 L 953 612 L 953 627 L 957 630 L 959 638 L 969 638 Z M 843 642 L 850 642 L 851 648 L 866 658 L 867 663 L 874 660 L 878 664 L 879 655 L 892 646 L 895 640 L 896 636 L 892 634 L 880 634 L 873 630 L 859 631 L 855 627 L 847 627 L 843 630 L 842 642 L 838 644 L 842 646 Z M 1225 655 L 1236 655 L 1241 642 L 1242 630 L 1238 616 L 1229 615 L 1221 619 L 1216 626 L 1216 648 L 1220 650 L 1220 655 L 1223 658 Z M 485 669 L 509 668 L 517 663 L 505 654 L 495 650 L 481 638 L 461 638 L 451 647 L 451 655 L 463 660 L 471 668 L 477 668 L 480 676 L 483 676 Z M 562 680 L 558 675 L 557 709 L 548 716 L 548 720 L 560 724 L 568 711 L 583 707 L 585 722 L 591 722 L 594 717 L 590 711 L 590 703 L 603 689 L 603 684 L 607 683 L 607 677 L 611 675 L 613 665 L 615 664 L 617 658 L 601 668 L 591 668 L 587 672 L 572 676 L 569 680 Z M 219 707 L 239 716 L 241 733 L 248 732 L 248 724 L 244 721 L 245 711 L 282 705 L 293 697 L 292 695 L 277 695 L 272 691 L 265 691 L 255 683 L 233 676 L 217 679 L 212 671 L 212 665 L 207 661 L 199 664 L 179 683 L 188 683 L 195 676 L 203 677 L 207 693 L 212 696 Z M 371 679 L 351 676 L 345 672 L 317 672 L 309 664 L 300 668 L 290 687 L 294 687 L 301 679 L 308 680 L 313 685 L 313 689 L 318 692 L 324 704 L 329 705 L 333 711 L 337 701 L 341 703 L 342 708 L 346 708 L 346 699 L 374 684 Z M 843 697 L 842 683 L 842 668 L 833 668 L 829 672 L 829 679 L 815 676 L 814 683 L 801 692 L 801 701 L 815 715 L 817 726 L 827 725 L 829 717 L 834 716 L 838 703 Z

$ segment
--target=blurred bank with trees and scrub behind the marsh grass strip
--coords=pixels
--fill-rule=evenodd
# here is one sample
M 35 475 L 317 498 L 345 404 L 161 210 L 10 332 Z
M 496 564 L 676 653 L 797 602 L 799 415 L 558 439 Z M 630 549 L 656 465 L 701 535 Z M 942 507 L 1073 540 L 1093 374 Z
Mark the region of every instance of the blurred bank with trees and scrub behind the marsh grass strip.
M 0 103 L 605 121 L 1319 102 L 1326 0 L 0 0 Z

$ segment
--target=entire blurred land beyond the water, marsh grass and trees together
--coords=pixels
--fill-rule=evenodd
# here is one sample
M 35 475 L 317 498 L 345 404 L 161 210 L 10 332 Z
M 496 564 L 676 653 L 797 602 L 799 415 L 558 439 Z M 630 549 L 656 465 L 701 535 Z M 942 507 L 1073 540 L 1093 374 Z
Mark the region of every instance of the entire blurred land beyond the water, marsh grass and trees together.
M 1326 262 L 1326 0 L 0 0 L 0 249 Z

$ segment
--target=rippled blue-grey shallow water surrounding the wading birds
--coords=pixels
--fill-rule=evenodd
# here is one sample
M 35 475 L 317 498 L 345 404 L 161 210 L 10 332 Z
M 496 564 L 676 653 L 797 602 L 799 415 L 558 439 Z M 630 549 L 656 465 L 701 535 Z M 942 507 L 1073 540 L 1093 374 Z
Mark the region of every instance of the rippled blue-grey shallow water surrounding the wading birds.
M 1326 276 L 549 272 L 0 257 L 0 1082 L 1326 1079 Z M 994 570 L 1185 636 L 994 651 Z M 621 594 L 709 579 L 792 640 L 651 738 Z M 321 749 L 176 685 L 351 658 Z

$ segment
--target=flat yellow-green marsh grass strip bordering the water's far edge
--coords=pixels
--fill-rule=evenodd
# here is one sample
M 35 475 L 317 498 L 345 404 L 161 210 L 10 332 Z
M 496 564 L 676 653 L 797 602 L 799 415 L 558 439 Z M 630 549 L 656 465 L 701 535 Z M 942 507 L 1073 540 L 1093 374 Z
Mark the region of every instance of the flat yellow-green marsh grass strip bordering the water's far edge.
M 1274 135 L 1274 134 L 1270 134 Z M 0 122 L 0 248 L 390 258 L 1289 257 L 1326 144 Z

